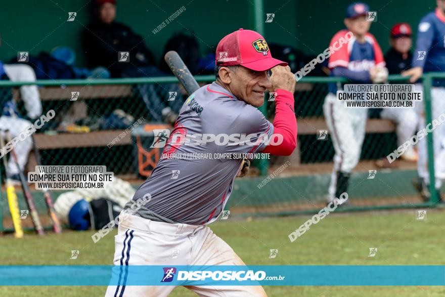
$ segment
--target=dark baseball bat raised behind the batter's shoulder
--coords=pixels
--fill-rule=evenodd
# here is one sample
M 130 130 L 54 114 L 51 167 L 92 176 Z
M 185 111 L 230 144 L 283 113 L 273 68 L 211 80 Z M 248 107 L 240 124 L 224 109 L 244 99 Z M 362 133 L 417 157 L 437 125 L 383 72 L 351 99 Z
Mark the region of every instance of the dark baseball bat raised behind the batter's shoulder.
M 171 72 L 177 77 L 179 82 L 186 89 L 187 95 L 191 95 L 193 92 L 199 89 L 199 84 L 196 82 L 189 68 L 187 68 L 184 61 L 175 51 L 169 51 L 165 54 L 164 60 L 170 67 Z

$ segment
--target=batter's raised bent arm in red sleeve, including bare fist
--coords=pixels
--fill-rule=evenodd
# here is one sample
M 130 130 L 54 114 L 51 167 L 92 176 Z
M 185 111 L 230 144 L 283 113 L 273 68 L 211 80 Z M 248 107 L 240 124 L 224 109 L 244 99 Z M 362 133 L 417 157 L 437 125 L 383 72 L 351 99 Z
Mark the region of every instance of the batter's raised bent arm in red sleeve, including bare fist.
M 297 146 L 297 119 L 294 111 L 295 77 L 289 66 L 272 69 L 272 88 L 276 92 L 274 134 L 281 135 L 283 142 L 268 145 L 262 153 L 288 156 Z

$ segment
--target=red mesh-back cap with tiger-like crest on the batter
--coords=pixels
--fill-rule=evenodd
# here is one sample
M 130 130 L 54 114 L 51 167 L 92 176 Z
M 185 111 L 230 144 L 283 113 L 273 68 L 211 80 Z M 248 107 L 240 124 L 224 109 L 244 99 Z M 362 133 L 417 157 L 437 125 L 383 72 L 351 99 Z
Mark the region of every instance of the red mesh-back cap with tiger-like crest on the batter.
M 287 63 L 272 58 L 263 36 L 255 31 L 239 29 L 219 41 L 215 65 L 241 65 L 254 71 L 266 71 Z

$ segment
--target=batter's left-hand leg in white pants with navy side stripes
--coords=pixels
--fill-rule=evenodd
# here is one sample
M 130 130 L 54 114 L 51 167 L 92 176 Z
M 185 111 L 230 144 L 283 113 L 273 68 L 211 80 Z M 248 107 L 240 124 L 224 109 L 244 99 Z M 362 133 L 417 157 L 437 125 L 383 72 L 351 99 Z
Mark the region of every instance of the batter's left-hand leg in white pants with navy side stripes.
M 119 223 L 118 234 L 115 237 L 115 252 L 113 263 L 123 268 L 128 265 L 189 265 L 191 242 L 187 234 L 165 232 L 158 227 L 175 226 L 175 224 L 152 222 L 136 216 L 128 216 Z M 177 256 L 172 257 L 172 251 L 177 250 Z M 119 286 L 110 285 L 106 297 L 164 297 L 175 286 L 127 286 L 124 283 L 125 269 L 119 271 Z M 116 276 L 117 277 L 117 276 Z M 162 275 L 159 275 L 159 282 Z

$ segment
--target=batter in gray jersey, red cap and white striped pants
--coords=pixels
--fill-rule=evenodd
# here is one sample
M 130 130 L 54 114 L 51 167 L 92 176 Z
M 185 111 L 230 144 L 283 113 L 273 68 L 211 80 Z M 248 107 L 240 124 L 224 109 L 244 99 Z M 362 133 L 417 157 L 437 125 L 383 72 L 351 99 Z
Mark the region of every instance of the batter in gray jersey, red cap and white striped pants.
M 126 206 L 130 215 L 119 217 L 113 259 L 121 266 L 119 283 L 108 286 L 106 297 L 168 296 L 178 265 L 245 266 L 207 224 L 227 203 L 243 154 L 295 149 L 295 77 L 260 34 L 243 29 L 219 41 L 215 66 L 216 81 L 186 100 L 152 175 Z M 256 109 L 266 90 L 275 95 L 273 124 Z M 126 285 L 127 265 L 162 265 L 160 282 L 168 285 Z M 186 288 L 200 296 L 266 296 L 260 285 L 188 282 Z

